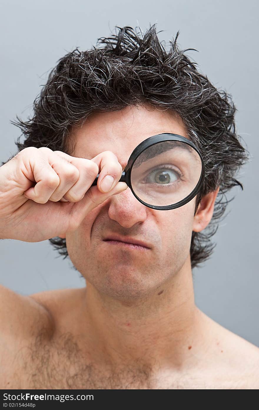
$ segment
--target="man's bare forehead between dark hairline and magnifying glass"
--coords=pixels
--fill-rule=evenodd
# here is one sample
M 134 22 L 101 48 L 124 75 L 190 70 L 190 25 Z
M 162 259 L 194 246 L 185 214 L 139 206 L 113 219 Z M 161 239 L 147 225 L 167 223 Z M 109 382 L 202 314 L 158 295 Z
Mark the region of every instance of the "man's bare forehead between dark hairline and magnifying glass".
M 142 141 L 164 132 L 188 137 L 182 118 L 160 107 L 129 106 L 114 112 L 94 112 L 83 125 L 72 129 L 70 138 L 75 148 L 70 155 L 92 159 L 109 150 L 121 162 Z

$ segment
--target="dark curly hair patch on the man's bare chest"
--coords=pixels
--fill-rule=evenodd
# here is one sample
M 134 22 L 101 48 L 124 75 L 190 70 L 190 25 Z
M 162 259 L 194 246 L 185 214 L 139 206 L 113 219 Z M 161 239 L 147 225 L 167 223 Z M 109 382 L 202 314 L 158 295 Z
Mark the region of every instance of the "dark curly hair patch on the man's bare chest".
M 154 382 L 141 358 L 116 368 L 95 364 L 71 333 L 46 340 L 42 331 L 19 349 L 13 365 L 16 371 L 8 387 L 16 389 L 151 389 Z

